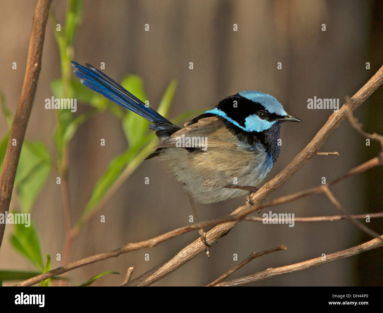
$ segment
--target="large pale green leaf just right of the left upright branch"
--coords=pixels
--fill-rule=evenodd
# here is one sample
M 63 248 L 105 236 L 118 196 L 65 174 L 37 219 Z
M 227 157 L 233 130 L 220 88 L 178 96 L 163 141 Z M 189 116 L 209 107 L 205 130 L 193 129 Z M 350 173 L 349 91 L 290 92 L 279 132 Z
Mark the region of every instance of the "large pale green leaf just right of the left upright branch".
M 30 212 L 51 170 L 51 156 L 45 144 L 25 141 L 16 171 L 15 187 L 23 212 Z

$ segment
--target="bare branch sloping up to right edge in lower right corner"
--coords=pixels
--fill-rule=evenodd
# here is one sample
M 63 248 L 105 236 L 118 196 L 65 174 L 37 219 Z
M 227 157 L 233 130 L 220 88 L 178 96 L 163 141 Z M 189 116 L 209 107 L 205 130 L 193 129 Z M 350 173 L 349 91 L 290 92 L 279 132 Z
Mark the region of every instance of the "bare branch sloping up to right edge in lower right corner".
M 349 256 L 353 256 L 355 254 L 359 254 L 364 251 L 376 249 L 383 246 L 383 241 L 381 241 L 380 239 L 383 239 L 383 236 L 381 236 L 379 239 L 375 238 L 373 240 L 370 240 L 366 243 L 363 243 L 362 245 L 358 245 L 358 246 L 345 249 L 336 253 L 327 254 L 325 258 L 323 256 L 320 256 L 319 258 L 311 259 L 311 260 L 300 262 L 300 263 L 277 267 L 275 269 L 270 268 L 270 269 L 267 269 L 266 271 L 258 272 L 258 273 L 245 276 L 239 279 L 229 280 L 228 282 L 221 282 L 217 284 L 216 286 L 222 287 L 222 286 L 236 286 L 241 284 L 247 284 L 249 282 L 256 282 L 259 280 L 264 280 L 269 277 L 275 277 L 275 276 L 280 276 L 287 273 L 301 271 L 303 269 L 308 269 L 314 266 L 348 258 Z

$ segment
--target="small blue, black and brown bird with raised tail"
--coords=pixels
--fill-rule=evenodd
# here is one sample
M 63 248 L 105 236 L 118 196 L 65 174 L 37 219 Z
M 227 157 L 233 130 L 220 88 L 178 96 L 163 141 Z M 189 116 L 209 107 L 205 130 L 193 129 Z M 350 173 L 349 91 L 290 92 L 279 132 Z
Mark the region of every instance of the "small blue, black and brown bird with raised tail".
M 146 159 L 157 157 L 184 184 L 193 212 L 194 201 L 211 204 L 257 191 L 279 156 L 282 123 L 302 122 L 273 96 L 250 90 L 178 127 L 92 65 L 72 66 L 83 85 L 151 122 L 162 141 Z

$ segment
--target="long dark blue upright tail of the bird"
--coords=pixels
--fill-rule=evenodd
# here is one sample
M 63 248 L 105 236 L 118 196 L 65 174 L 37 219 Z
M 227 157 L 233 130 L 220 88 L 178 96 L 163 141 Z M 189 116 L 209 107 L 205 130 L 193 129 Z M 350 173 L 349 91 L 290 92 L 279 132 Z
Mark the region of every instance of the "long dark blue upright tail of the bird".
M 146 107 L 145 103 L 103 72 L 90 64 L 85 65 L 86 67 L 72 61 L 73 73 L 80 78 L 83 85 L 152 122 L 153 124 L 149 127 L 157 130 L 156 135 L 158 137 L 167 138 L 180 129 L 154 109 Z

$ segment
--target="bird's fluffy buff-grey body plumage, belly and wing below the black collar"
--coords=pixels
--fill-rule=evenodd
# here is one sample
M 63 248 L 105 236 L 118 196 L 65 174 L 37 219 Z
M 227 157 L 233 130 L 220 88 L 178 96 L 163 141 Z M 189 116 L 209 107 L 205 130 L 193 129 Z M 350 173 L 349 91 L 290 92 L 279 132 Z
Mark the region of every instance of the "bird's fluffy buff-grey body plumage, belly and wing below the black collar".
M 203 146 L 179 147 L 183 138 L 204 137 Z M 178 146 L 177 146 L 178 142 Z M 216 118 L 205 118 L 175 132 L 160 143 L 162 163 L 200 203 L 213 203 L 247 193 L 226 185 L 257 186 L 272 167 L 262 145 L 249 147 L 229 133 Z M 189 147 L 190 148 L 190 147 Z

